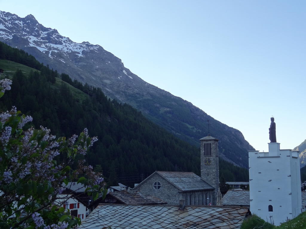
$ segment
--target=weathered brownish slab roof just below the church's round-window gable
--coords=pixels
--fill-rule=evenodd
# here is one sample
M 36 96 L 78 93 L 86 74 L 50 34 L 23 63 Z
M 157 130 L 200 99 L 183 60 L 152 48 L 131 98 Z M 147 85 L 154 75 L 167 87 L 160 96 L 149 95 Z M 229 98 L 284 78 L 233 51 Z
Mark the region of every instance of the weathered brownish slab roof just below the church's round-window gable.
M 144 196 L 140 193 L 129 193 L 127 191 L 110 192 L 109 195 L 117 198 L 125 204 L 166 204 L 167 202 L 162 201 L 155 196 Z

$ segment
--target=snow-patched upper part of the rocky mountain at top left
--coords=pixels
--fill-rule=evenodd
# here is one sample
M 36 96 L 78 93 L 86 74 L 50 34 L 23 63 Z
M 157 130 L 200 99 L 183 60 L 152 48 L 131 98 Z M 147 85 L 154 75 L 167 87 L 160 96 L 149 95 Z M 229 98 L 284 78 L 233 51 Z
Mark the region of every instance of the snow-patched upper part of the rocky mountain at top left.
M 16 14 L 0 11 L 0 41 L 9 42 L 14 39 L 13 36 L 17 36 L 19 40 L 22 38 L 23 46 L 34 47 L 51 59 L 56 59 L 57 54 L 61 52 L 59 60 L 64 63 L 65 56 L 69 59 L 80 58 L 92 51 L 98 52 L 98 49 L 103 49 L 89 42 L 73 42 L 60 35 L 56 29 L 39 24 L 32 14 L 21 18 Z

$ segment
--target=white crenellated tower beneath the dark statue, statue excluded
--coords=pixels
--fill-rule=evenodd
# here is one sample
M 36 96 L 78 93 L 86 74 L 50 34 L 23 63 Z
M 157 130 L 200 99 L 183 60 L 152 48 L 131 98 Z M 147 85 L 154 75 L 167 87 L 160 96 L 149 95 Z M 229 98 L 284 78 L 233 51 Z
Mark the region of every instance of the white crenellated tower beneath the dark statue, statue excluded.
M 248 151 L 250 210 L 279 225 L 301 213 L 299 151 L 268 145 L 269 152 Z

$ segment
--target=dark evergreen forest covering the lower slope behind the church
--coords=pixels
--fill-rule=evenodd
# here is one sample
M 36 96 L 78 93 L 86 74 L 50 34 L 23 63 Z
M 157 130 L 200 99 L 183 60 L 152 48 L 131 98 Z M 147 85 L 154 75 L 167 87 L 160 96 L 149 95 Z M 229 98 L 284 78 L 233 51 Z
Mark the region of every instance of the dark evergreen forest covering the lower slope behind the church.
M 200 175 L 200 149 L 178 139 L 128 104 L 107 98 L 100 88 L 72 80 L 22 50 L 0 42 L 0 68 L 13 80 L 0 100 L 2 111 L 16 106 L 33 125 L 70 137 L 85 127 L 97 136 L 86 162 L 103 172 L 108 185 L 133 187 L 156 170 Z M 3 78 L 3 75 L 2 75 Z M 247 169 L 220 160 L 226 181 L 248 181 Z

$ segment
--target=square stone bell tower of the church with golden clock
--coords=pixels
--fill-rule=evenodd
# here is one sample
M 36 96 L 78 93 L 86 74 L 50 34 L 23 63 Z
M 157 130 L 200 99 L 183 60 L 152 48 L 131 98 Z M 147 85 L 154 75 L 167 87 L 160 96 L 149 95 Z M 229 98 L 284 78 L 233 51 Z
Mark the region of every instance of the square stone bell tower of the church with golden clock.
M 212 205 L 217 204 L 217 192 L 219 190 L 219 156 L 218 139 L 208 134 L 200 139 L 201 142 L 201 178 L 213 186 Z

